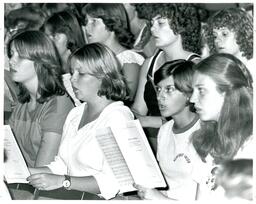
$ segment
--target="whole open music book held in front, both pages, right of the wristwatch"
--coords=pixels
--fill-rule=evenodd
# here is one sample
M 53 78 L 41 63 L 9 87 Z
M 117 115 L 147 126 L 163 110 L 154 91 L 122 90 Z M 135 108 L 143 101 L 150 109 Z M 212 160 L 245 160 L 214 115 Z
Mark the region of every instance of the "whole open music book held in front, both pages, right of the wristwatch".
M 165 187 L 166 183 L 138 120 L 123 127 L 97 130 L 96 139 L 120 186 L 120 193 L 136 190 L 133 183 Z

